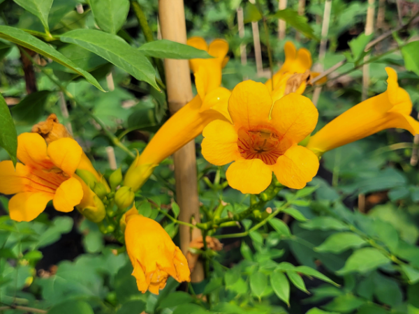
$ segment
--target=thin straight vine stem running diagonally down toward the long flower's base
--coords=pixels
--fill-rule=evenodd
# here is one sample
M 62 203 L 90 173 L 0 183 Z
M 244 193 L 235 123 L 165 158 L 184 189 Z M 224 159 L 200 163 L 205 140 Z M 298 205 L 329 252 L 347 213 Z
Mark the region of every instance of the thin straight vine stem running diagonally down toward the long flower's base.
M 45 70 L 45 68 L 43 68 L 42 66 L 39 66 L 38 63 L 35 62 L 35 60 L 24 50 L 22 50 L 22 52 L 24 54 L 26 54 L 26 56 L 28 57 L 29 60 L 32 61 L 32 63 L 34 64 L 34 66 L 36 68 L 38 68 L 39 70 L 41 70 L 41 72 L 43 74 L 45 74 L 50 80 L 51 82 L 53 82 L 55 85 L 57 85 L 57 87 L 63 92 L 64 95 L 66 95 L 71 101 L 73 101 L 76 105 L 78 105 L 78 107 L 80 107 L 87 115 L 89 115 L 89 117 L 91 117 L 91 119 L 94 119 L 94 121 L 101 126 L 103 132 L 105 132 L 105 134 L 109 137 L 110 141 L 116 146 L 119 147 L 119 149 L 122 149 L 123 151 L 126 152 L 126 154 L 128 154 L 128 156 L 130 156 L 131 158 L 135 158 L 135 154 L 133 154 L 132 151 L 130 151 L 128 149 L 128 147 L 126 147 L 124 144 L 122 144 L 121 141 L 118 140 L 118 137 L 116 137 L 112 132 L 110 132 L 110 130 L 108 130 L 108 128 L 106 128 L 105 124 L 103 123 L 103 121 L 101 121 L 101 119 L 99 119 L 98 117 L 96 117 L 94 114 L 92 114 L 90 112 L 89 109 L 87 109 L 87 107 L 85 107 L 82 103 L 80 103 L 80 101 L 78 101 L 67 89 L 66 87 L 64 87 L 64 85 L 62 85 L 60 82 L 58 82 L 57 80 L 54 79 L 54 77 L 52 77 L 52 75 L 50 75 L 50 73 L 47 72 L 47 70 Z

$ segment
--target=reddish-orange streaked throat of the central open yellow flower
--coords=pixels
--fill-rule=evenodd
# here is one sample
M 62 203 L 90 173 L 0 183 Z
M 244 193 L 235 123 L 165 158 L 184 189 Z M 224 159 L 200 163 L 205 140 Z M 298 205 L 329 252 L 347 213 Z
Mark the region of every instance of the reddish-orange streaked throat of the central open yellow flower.
M 240 155 L 244 159 L 262 160 L 267 165 L 277 163 L 279 156 L 283 155 L 289 145 L 284 142 L 279 135 L 270 128 L 258 128 L 238 130 L 237 146 Z

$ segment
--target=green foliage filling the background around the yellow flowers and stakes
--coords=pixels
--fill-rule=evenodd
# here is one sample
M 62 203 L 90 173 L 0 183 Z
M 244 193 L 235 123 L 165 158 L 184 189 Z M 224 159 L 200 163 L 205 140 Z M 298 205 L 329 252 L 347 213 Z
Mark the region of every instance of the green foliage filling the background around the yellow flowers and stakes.
M 157 1 L 138 3 L 157 37 Z M 362 63 L 367 43 L 397 28 L 399 17 L 406 23 L 419 10 L 417 1 L 380 0 L 378 5 L 385 8 L 382 24 L 365 36 L 367 2 L 332 1 L 324 68 L 345 58 L 348 63 L 337 70 L 345 75 L 323 87 L 317 128 L 360 102 L 362 71 L 355 67 Z M 296 0 L 288 0 L 286 11 L 277 13 L 277 6 L 275 0 L 262 0 L 260 12 L 241 0 L 185 1 L 189 36 L 228 40 L 224 87 L 233 89 L 244 77 L 266 80 L 256 72 L 249 23 L 262 16 L 269 17 L 275 68 L 284 61 L 285 43 L 277 37 L 277 18 L 288 22 L 286 40 L 307 47 L 316 61 L 325 2 L 307 1 L 306 18 L 297 15 Z M 247 22 L 243 38 L 238 36 L 239 7 Z M 146 44 L 128 0 L 0 0 L 0 10 L 0 91 L 5 98 L 0 102 L 0 160 L 15 160 L 16 131 L 28 132 L 55 113 L 71 126 L 105 176 L 111 173 L 105 147 L 115 147 L 117 165 L 126 170 L 132 158 L 117 142 L 141 151 L 168 119 L 156 60 L 203 56 L 164 41 Z M 414 117 L 419 106 L 416 40 L 418 28 L 410 27 L 376 45 L 368 90 L 369 96 L 385 91 L 385 66 L 397 68 L 399 84 L 416 108 Z M 261 35 L 261 42 L 267 69 L 266 36 Z M 246 65 L 240 61 L 242 44 L 247 45 Z M 31 71 L 36 80 L 28 79 Z M 223 215 L 243 211 L 252 198 L 227 187 L 226 167 L 202 158 L 201 140 L 197 138 L 196 148 L 203 219 L 221 200 L 227 203 Z M 417 144 L 408 132 L 387 130 L 328 152 L 309 187 L 281 190 L 266 204 L 276 215 L 269 223 L 255 228 L 260 219 L 253 217 L 217 234 L 224 248 L 203 254 L 210 263 L 203 283 L 186 286 L 171 280 L 159 296 L 138 292 L 120 244 L 77 211 L 62 215 L 47 209 L 30 223 L 16 223 L 7 216 L 7 197 L 0 196 L 0 309 L 7 314 L 32 311 L 22 306 L 54 314 L 419 313 L 419 175 L 418 166 L 410 162 L 414 149 Z M 147 201 L 176 217 L 174 184 L 168 158 L 136 201 L 142 214 L 158 220 L 176 242 L 177 225 Z M 229 237 L 237 232 L 243 237 Z M 10 309 L 10 304 L 20 308 Z

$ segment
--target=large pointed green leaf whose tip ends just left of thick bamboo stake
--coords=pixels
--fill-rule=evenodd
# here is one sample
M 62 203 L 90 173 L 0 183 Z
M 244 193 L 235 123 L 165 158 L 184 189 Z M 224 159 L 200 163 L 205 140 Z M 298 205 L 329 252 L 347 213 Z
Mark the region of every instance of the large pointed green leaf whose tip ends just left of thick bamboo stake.
M 137 80 L 142 80 L 159 89 L 152 63 L 139 50 L 131 47 L 122 38 L 94 29 L 75 29 L 60 37 L 64 43 L 73 43 L 98 54 L 103 59 L 126 70 Z

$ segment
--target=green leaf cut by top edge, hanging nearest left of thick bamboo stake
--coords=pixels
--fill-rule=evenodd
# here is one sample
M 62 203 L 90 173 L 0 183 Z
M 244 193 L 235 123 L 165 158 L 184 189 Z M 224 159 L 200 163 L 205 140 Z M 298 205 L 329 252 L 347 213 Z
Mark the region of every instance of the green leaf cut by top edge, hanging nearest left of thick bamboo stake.
M 90 8 L 103 31 L 117 33 L 128 16 L 129 0 L 90 0 Z

